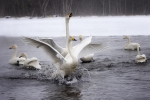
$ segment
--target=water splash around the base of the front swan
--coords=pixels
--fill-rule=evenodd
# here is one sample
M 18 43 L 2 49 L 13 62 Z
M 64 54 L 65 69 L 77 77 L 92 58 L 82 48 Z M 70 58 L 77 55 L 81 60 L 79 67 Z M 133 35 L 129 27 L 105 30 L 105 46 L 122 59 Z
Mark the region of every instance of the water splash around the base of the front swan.
M 88 69 L 84 68 L 83 66 L 78 66 L 76 70 L 71 75 L 67 76 L 65 79 L 63 79 L 61 76 L 58 76 L 55 79 L 52 78 L 52 73 L 56 70 L 53 64 L 42 64 L 41 66 L 42 69 L 39 70 L 37 74 L 37 78 L 39 80 L 49 80 L 57 84 L 72 84 L 82 80 L 82 76 L 85 75 L 84 71 L 88 73 L 88 79 L 91 80 L 91 76 Z

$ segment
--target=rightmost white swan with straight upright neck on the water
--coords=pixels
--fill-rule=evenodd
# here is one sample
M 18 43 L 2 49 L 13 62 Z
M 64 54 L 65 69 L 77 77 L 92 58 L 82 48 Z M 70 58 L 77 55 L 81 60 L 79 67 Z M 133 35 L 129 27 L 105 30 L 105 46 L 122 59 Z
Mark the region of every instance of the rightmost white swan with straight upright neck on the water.
M 137 45 L 137 52 L 138 52 L 138 55 L 136 56 L 136 63 L 143 63 L 143 62 L 146 62 L 147 61 L 147 58 L 146 58 L 146 55 L 145 54 L 140 54 L 140 51 L 139 51 L 139 45 Z

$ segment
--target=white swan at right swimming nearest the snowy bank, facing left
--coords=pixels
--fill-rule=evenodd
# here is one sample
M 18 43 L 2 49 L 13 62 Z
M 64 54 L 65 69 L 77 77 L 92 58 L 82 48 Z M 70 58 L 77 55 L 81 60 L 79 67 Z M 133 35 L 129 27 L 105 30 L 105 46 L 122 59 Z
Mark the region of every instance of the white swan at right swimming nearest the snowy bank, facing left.
M 128 36 L 124 36 L 123 39 L 128 39 L 128 43 L 124 47 L 125 50 L 135 50 L 135 49 L 137 49 L 137 45 L 140 48 L 140 44 L 138 44 L 138 43 L 130 43 L 130 38 Z

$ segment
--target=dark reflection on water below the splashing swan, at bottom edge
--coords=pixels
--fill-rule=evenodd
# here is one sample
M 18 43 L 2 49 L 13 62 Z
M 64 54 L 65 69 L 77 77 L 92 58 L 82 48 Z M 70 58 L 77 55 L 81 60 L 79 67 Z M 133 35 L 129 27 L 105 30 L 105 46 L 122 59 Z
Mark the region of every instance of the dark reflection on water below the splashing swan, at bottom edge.
M 72 85 L 47 86 L 44 90 L 46 97 L 43 100 L 81 100 L 81 90 Z

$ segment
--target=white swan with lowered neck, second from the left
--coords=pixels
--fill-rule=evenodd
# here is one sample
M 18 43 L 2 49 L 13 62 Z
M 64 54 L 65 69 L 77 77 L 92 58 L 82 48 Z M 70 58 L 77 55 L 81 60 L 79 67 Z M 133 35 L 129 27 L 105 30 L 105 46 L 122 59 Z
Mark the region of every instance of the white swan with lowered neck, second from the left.
M 35 57 L 28 58 L 28 55 L 27 55 L 26 53 L 22 53 L 22 54 L 20 55 L 20 57 L 24 57 L 24 58 L 26 59 L 26 60 L 24 61 L 24 64 L 23 64 L 23 66 L 24 66 L 25 68 L 33 67 L 33 68 L 35 68 L 35 69 L 41 69 L 41 66 L 40 66 L 39 61 L 38 61 L 37 58 L 35 58 Z M 19 57 L 19 58 L 20 58 L 20 57 Z

